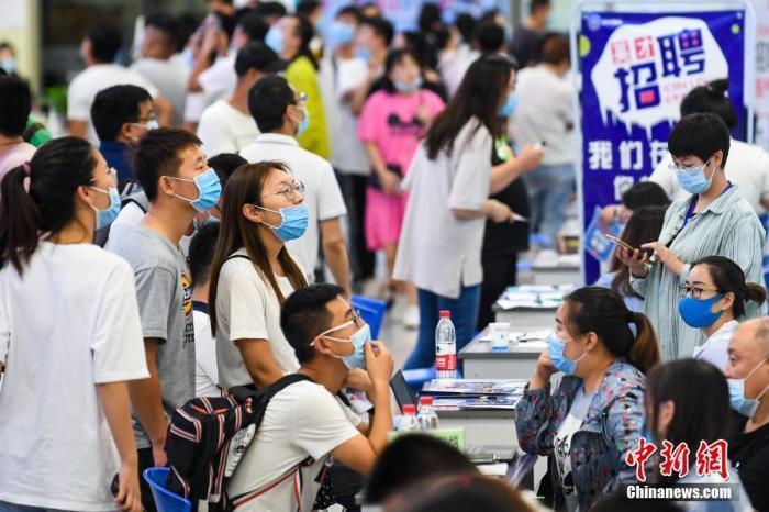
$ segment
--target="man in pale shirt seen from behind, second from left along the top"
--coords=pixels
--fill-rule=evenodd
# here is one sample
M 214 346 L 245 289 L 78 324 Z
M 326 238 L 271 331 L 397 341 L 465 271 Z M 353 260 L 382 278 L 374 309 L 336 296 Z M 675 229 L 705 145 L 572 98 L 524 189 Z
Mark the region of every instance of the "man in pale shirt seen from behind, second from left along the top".
M 131 69 L 149 80 L 174 107 L 174 125 L 181 124 L 190 69 L 183 59 L 174 58 L 179 51 L 179 23 L 168 14 L 154 14 L 144 22 L 142 58 Z

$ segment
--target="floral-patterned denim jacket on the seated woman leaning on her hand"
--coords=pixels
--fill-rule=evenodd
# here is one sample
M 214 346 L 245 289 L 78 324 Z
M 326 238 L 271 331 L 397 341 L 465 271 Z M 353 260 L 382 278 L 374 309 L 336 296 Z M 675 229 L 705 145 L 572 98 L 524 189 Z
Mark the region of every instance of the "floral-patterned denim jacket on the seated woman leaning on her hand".
M 558 428 L 571 409 L 582 379 L 566 376 L 550 394 L 550 387 L 528 390 L 515 408 L 515 427 L 521 449 L 551 456 Z M 602 494 L 635 480 L 625 464 L 644 426 L 646 377 L 626 359 L 616 359 L 593 396 L 579 431 L 571 438 L 571 468 L 579 509 L 588 510 Z M 556 502 L 561 502 L 560 481 L 553 475 Z

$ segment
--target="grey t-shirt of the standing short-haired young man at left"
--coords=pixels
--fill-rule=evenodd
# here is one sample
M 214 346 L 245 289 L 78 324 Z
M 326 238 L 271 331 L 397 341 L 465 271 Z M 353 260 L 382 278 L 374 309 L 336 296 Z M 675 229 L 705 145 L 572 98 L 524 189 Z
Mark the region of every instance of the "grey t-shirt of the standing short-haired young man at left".
M 170 418 L 194 398 L 192 286 L 185 256 L 168 238 L 142 225 L 112 226 L 107 249 L 133 268 L 143 336 L 160 340 L 157 369 L 163 409 Z M 149 447 L 135 416 L 133 423 L 136 446 Z

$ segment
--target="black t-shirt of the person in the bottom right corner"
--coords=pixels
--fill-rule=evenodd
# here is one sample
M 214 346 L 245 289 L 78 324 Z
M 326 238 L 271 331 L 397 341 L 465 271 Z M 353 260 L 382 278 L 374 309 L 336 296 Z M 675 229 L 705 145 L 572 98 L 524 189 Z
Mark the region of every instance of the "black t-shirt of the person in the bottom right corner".
M 734 413 L 729 460 L 756 510 L 769 511 L 769 424 L 745 433 L 748 419 Z

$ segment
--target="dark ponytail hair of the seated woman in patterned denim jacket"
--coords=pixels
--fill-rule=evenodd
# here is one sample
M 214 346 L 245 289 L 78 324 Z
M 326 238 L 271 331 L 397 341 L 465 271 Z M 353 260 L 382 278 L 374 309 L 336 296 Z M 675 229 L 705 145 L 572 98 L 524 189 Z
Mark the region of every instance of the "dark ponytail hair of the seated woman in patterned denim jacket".
M 659 363 L 659 344 L 651 322 L 645 314 L 628 310 L 616 292 L 584 287 L 571 292 L 564 301 L 570 305 L 567 323 L 577 333 L 595 333 L 611 354 L 626 357 L 644 374 Z

